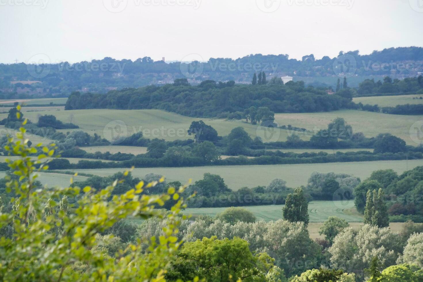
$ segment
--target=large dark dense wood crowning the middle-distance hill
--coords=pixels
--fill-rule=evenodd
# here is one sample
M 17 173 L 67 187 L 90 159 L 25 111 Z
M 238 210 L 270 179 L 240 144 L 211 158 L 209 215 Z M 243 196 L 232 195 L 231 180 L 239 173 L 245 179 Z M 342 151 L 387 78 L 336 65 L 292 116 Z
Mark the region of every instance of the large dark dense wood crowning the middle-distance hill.
M 124 88 L 107 95 L 74 92 L 66 101 L 65 110 L 160 109 L 192 117 L 216 117 L 250 107 L 267 107 L 272 112 L 324 112 L 356 107 L 347 98 L 305 87 L 304 82 L 267 84 L 263 89 L 206 82 L 197 86 L 185 81 L 161 87 Z

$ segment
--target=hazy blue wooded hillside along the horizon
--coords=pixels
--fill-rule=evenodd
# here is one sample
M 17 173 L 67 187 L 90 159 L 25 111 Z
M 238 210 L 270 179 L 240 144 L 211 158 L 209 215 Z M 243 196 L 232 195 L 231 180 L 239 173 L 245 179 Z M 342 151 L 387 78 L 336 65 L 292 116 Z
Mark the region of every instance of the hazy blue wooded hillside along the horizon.
M 33 64 L 38 62 L 44 64 Z M 29 93 L 36 97 L 68 96 L 72 91 L 107 93 L 125 87 L 162 85 L 178 78 L 188 78 L 191 84 L 207 79 L 247 84 L 254 73 L 262 71 L 269 80 L 275 76 L 291 76 L 294 81 L 303 80 L 316 87 L 332 88 L 335 88 L 338 77 L 347 76 L 349 86 L 356 87 L 364 79 L 383 80 L 387 75 L 392 79 L 417 77 L 423 72 L 422 62 L 422 47 L 389 48 L 370 55 L 360 55 L 358 50 L 340 52 L 336 58 L 324 56 L 319 60 L 313 54 L 302 57 L 302 60 L 289 59 L 284 54 L 255 54 L 236 60 L 210 58 L 190 65 L 154 61 L 150 57 L 135 61 L 106 57 L 75 64 L 49 64 L 46 55 L 37 55 L 29 65 L 0 64 L 0 91 Z

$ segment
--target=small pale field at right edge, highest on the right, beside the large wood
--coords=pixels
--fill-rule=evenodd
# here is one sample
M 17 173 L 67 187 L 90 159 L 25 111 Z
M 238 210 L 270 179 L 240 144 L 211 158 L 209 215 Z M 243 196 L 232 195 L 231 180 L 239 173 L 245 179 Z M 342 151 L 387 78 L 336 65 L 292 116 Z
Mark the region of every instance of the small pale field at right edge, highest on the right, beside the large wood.
M 374 96 L 353 98 L 354 103 L 379 105 L 379 107 L 395 107 L 404 104 L 423 104 L 423 95 Z M 413 99 L 417 98 L 417 99 Z

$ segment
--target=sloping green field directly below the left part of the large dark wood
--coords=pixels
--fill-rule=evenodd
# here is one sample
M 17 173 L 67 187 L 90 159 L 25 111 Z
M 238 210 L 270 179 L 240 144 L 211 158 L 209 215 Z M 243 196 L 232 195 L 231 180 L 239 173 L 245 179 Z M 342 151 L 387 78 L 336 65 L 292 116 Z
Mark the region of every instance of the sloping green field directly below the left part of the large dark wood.
M 136 132 L 143 132 L 143 136 L 149 139 L 159 138 L 167 141 L 192 139 L 192 135 L 187 134 L 190 124 L 195 120 L 203 120 L 205 123 L 213 126 L 220 136 L 228 135 L 235 127 L 243 127 L 252 138 L 256 136 L 262 137 L 266 140 L 264 134 L 267 132 L 266 127 L 246 123 L 243 120 L 223 120 L 210 118 L 190 118 L 183 115 L 177 115 L 162 110 L 59 110 L 44 112 L 26 112 L 25 118 L 33 122 L 38 121 L 39 115 L 55 115 L 58 120 L 64 123 L 74 123 L 80 126 L 80 129 L 91 135 L 94 133 L 102 137 L 111 139 L 111 129 L 118 120 L 121 126 L 121 136 L 130 136 Z M 0 114 L 0 118 L 6 118 L 7 114 Z M 110 123 L 111 122 L 111 123 Z M 64 133 L 70 131 L 69 129 L 59 130 Z M 116 133 L 115 133 L 116 134 Z M 275 132 L 267 133 L 271 141 L 286 141 L 286 137 L 290 134 L 285 129 L 275 129 Z M 270 134 L 270 135 L 269 135 Z M 310 137 L 303 137 L 304 140 Z

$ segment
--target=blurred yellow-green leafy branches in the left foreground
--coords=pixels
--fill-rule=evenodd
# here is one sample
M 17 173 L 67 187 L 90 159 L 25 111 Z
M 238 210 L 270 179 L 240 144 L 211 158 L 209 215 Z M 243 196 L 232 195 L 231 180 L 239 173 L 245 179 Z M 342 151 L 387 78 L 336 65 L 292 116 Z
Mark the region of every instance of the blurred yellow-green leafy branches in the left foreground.
M 22 123 L 25 125 L 26 120 Z M 126 251 L 118 254 L 99 247 L 97 233 L 102 233 L 116 222 L 128 216 L 143 218 L 159 217 L 155 207 L 163 205 L 170 197 L 183 192 L 169 189 L 167 194 L 139 197 L 144 186 L 138 183 L 135 189 L 114 196 L 112 201 L 99 200 L 111 196 L 118 181 L 98 192 L 86 186 L 82 189 L 87 197 L 79 197 L 80 187 L 63 189 L 38 189 L 34 175 L 47 169 L 41 163 L 55 153 L 54 145 L 36 145 L 46 155 L 33 160 L 30 155 L 36 148 L 28 148 L 25 129 L 20 129 L 18 141 L 9 139 L 6 150 L 13 151 L 19 159 L 8 162 L 18 180 L 7 183 L 8 192 L 16 197 L 11 201 L 14 209 L 0 217 L 0 226 L 13 228 L 13 238 L 0 240 L 3 267 L 0 268 L 2 281 L 109 281 L 162 280 L 163 273 L 173 260 L 181 244 L 176 237 L 180 222 L 180 211 L 184 203 L 180 200 L 165 217 L 165 233 L 155 240 L 146 239 L 146 249 L 139 243 L 125 244 Z M 42 148 L 41 148 L 42 147 Z M 38 170 L 34 165 L 40 165 Z M 128 172 L 125 172 L 126 175 Z M 72 197 L 77 204 L 55 199 Z M 66 208 L 66 206 L 68 206 Z M 109 237 L 110 238 L 110 237 Z M 119 249 L 121 247 L 118 247 Z M 128 252 L 130 250 L 130 252 Z M 16 263 L 25 262 L 16 267 Z M 40 267 L 41 266 L 41 267 Z M 134 267 L 136 266 L 136 267 Z M 83 271 L 81 271 L 83 269 Z

